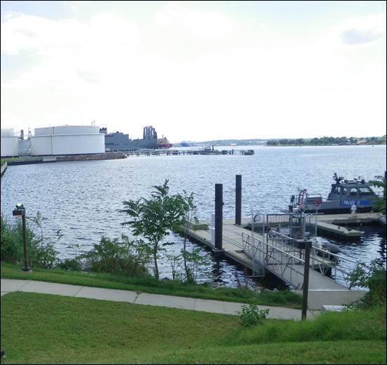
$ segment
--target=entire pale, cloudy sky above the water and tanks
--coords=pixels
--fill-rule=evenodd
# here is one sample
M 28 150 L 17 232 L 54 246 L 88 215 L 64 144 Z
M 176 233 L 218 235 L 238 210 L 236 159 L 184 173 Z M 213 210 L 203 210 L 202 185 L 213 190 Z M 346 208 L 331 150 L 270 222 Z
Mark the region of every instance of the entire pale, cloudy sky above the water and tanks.
M 386 1 L 1 1 L 1 128 L 386 134 Z

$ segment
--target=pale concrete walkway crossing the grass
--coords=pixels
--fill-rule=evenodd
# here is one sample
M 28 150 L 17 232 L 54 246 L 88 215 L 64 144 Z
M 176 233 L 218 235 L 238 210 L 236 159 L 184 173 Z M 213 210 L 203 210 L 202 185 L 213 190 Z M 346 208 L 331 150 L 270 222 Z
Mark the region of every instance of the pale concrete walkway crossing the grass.
M 136 291 L 118 289 L 92 288 L 68 284 L 55 284 L 46 281 L 1 279 L 1 296 L 6 293 L 22 291 L 27 293 L 55 294 L 57 296 L 72 296 L 75 298 L 91 298 L 98 300 L 112 300 L 142 305 L 156 305 L 158 307 L 179 308 L 183 310 L 198 310 L 218 314 L 237 315 L 243 303 L 222 302 L 220 300 L 204 300 L 184 298 L 179 296 L 163 296 Z M 259 305 L 260 310 L 269 309 L 268 318 L 271 319 L 301 319 L 301 310 L 283 307 L 269 307 Z M 316 312 L 308 311 L 307 317 L 314 317 Z

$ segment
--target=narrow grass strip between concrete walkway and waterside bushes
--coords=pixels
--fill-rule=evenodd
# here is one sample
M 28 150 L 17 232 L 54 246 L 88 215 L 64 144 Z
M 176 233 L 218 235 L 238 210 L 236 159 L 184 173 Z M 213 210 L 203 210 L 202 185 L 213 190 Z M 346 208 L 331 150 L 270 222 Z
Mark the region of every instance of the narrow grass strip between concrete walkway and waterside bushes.
M 41 270 L 35 268 L 31 274 L 26 274 L 22 272 L 20 265 L 10 265 L 8 263 L 1 263 L 1 278 L 50 281 L 53 283 L 143 291 L 145 293 L 170 296 L 257 303 L 259 305 L 290 307 L 294 309 L 301 309 L 302 305 L 302 297 L 292 291 L 254 293 L 243 288 L 212 288 L 204 285 L 184 284 L 180 281 L 156 280 L 152 277 L 117 277 L 103 273 Z

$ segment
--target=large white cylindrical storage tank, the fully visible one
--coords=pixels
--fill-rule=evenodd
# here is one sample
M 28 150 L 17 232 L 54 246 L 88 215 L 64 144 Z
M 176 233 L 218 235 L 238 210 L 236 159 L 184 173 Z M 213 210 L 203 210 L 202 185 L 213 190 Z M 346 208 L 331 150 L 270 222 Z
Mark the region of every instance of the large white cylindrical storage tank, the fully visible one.
M 104 153 L 104 134 L 99 126 L 35 128 L 31 137 L 33 156 Z

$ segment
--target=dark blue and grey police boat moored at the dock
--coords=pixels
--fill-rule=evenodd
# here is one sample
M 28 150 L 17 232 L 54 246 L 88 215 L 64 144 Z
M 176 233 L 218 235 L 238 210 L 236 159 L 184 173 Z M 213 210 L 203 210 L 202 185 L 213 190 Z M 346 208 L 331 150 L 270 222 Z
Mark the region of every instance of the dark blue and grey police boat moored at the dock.
M 359 213 L 372 211 L 372 203 L 377 197 L 364 179 L 344 180 L 334 173 L 335 183 L 332 184 L 327 200 L 322 200 L 321 194 L 309 194 L 306 189 L 299 190 L 296 198 L 290 198 L 289 211 L 303 211 L 304 213 L 351 213 L 355 206 Z

